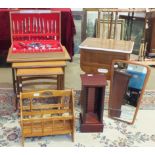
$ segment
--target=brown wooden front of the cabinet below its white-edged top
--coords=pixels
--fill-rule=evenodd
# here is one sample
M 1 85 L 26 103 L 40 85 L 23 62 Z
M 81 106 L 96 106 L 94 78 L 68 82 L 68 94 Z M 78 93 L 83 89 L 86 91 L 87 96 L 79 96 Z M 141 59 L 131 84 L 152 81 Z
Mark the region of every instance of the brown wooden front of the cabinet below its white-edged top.
M 129 60 L 130 58 L 130 54 L 128 53 L 89 49 L 80 49 L 80 55 L 80 66 L 84 72 L 96 74 L 98 73 L 99 68 L 108 69 L 108 73 L 105 74 L 107 80 L 110 80 L 111 65 L 113 60 Z

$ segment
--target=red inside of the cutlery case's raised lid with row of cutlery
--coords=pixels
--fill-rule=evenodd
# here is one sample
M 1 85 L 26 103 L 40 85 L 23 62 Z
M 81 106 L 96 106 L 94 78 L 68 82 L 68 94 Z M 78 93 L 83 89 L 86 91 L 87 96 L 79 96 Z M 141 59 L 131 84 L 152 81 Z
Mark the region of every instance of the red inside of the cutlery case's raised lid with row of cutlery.
M 56 19 L 29 16 L 12 20 L 12 33 L 17 34 L 16 40 L 57 40 L 59 26 Z

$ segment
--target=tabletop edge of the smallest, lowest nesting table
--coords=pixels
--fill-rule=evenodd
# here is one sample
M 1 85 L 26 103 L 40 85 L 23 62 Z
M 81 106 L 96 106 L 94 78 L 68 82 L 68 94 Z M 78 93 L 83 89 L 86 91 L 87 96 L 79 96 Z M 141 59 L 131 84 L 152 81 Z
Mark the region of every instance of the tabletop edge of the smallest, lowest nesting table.
M 62 68 L 31 68 L 17 69 L 17 76 L 62 75 Z

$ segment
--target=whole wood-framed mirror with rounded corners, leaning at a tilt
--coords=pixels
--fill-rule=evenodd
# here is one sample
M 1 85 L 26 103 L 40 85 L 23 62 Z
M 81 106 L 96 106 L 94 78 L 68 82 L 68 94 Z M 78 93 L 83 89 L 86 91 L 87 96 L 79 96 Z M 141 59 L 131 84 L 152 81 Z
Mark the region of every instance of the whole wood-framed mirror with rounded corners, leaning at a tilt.
M 133 124 L 150 75 L 150 68 L 132 61 L 114 60 L 111 71 L 108 115 Z

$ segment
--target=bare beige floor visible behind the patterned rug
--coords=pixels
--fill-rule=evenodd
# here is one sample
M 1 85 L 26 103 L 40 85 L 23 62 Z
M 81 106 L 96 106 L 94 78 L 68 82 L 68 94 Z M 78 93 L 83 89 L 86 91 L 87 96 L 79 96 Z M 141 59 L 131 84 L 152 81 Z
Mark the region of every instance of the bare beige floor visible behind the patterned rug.
M 155 89 L 155 68 L 151 68 L 151 75 L 147 83 L 147 90 Z M 80 69 L 79 54 L 75 54 L 73 62 L 67 62 L 66 73 L 65 73 L 65 88 L 72 88 L 79 90 L 81 89 L 80 74 L 83 73 Z M 12 86 L 12 72 L 11 68 L 0 68 L 0 85 L 9 84 Z

